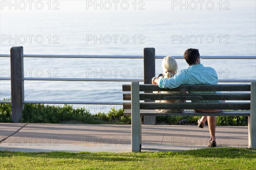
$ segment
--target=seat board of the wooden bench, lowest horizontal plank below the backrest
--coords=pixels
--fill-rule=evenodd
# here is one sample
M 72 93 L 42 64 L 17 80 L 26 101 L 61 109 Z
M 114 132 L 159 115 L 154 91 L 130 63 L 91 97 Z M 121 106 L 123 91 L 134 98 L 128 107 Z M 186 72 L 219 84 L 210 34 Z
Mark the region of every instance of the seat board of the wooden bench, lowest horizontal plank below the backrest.
M 124 116 L 131 116 L 131 110 L 125 110 Z M 183 111 L 182 113 L 159 113 L 155 110 L 140 110 L 140 116 L 250 116 L 250 111 L 223 111 L 219 113 Z

